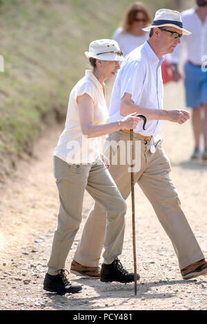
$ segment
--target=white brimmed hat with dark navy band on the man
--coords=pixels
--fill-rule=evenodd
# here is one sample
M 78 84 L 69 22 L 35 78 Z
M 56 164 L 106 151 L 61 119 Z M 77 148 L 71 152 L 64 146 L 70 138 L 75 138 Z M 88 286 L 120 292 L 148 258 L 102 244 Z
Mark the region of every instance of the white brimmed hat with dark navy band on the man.
M 151 28 L 155 27 L 175 27 L 183 32 L 184 35 L 190 35 L 191 32 L 183 28 L 181 15 L 178 11 L 170 9 L 159 9 L 155 13 L 155 19 L 152 21 L 152 25 L 143 28 L 145 32 L 150 32 Z

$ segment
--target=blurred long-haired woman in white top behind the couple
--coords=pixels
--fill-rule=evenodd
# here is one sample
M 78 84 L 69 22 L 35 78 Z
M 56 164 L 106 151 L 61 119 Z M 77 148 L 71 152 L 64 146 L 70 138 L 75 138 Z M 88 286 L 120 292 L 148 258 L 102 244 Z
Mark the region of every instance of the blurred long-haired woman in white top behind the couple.
M 128 7 L 121 27 L 112 36 L 124 52 L 124 57 L 148 39 L 148 32 L 144 32 L 142 28 L 151 22 L 150 12 L 143 3 L 135 2 Z

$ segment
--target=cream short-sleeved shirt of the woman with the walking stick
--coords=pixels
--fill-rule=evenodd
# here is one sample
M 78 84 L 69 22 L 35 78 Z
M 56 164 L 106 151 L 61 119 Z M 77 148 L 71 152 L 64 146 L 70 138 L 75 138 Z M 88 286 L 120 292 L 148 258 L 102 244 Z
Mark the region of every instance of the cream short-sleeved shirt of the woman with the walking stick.
M 108 109 L 103 89 L 95 74 L 86 70 L 70 92 L 65 128 L 59 137 L 54 155 L 67 163 L 93 163 L 102 152 L 101 136 L 88 139 L 81 132 L 77 97 L 88 94 L 94 102 L 94 125 L 108 121 Z

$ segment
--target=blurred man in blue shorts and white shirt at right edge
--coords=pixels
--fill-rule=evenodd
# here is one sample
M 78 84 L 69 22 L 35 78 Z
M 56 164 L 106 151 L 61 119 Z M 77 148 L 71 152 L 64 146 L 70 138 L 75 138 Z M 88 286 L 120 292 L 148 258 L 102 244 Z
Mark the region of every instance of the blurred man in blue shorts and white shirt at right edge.
M 192 109 L 193 135 L 195 148 L 192 159 L 207 160 L 207 0 L 197 0 L 197 7 L 181 12 L 185 28 L 192 34 L 181 43 L 186 45 L 184 65 L 186 105 Z M 172 54 L 172 79 L 179 81 L 177 69 L 181 45 Z M 202 68 L 203 65 L 203 68 Z M 202 116 L 203 114 L 203 116 Z M 201 136 L 204 137 L 204 151 L 201 155 Z

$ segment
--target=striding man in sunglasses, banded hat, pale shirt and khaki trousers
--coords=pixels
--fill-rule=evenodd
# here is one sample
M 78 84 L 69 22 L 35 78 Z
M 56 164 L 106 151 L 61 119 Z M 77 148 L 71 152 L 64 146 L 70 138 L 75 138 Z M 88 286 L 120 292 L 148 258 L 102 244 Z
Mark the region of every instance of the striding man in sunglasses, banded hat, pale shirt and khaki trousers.
M 110 121 L 119 121 L 121 116 L 132 112 L 144 114 L 148 119 L 146 130 L 142 122 L 134 130 L 135 147 L 138 143 L 141 159 L 140 168 L 134 172 L 134 180 L 146 194 L 150 203 L 168 234 L 175 248 L 181 276 L 183 279 L 194 278 L 207 274 L 207 262 L 204 254 L 188 225 L 175 187 L 170 179 L 170 161 L 161 148 L 162 120 L 183 124 L 190 114 L 185 110 L 163 109 L 163 84 L 161 79 L 161 63 L 163 55 L 172 53 L 180 43 L 182 34 L 190 34 L 184 30 L 179 12 L 161 9 L 155 14 L 150 30 L 150 37 L 144 45 L 136 48 L 126 57 L 112 91 L 110 103 Z M 120 107 L 120 110 L 119 110 Z M 108 141 L 117 142 L 117 148 L 112 145 L 113 154 L 124 156 L 121 147 L 130 141 L 127 130 L 121 130 L 108 135 Z M 120 143 L 120 145 L 119 145 Z M 106 143 L 108 148 L 108 143 Z M 112 163 L 110 154 L 110 174 L 112 175 L 121 195 L 127 199 L 130 194 L 130 173 L 127 163 L 118 161 Z M 101 278 L 99 258 L 104 241 L 106 226 L 106 211 L 95 203 L 88 215 L 83 229 L 81 241 L 72 261 L 70 271 L 74 274 Z

